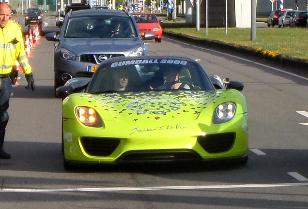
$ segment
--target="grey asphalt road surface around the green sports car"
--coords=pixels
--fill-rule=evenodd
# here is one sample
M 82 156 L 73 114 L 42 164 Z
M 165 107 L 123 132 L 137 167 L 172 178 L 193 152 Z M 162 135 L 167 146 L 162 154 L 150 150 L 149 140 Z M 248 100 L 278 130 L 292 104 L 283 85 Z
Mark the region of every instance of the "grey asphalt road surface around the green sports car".
M 45 33 L 59 31 L 54 17 L 44 18 Z M 210 74 L 244 83 L 246 166 L 143 164 L 65 171 L 61 99 L 53 93 L 53 44 L 42 37 L 30 60 L 35 91 L 25 90 L 24 78 L 13 88 L 4 144 L 12 158 L 0 160 L 1 208 L 308 208 L 308 79 L 259 60 L 166 38 L 147 46 L 151 54 L 188 56 Z

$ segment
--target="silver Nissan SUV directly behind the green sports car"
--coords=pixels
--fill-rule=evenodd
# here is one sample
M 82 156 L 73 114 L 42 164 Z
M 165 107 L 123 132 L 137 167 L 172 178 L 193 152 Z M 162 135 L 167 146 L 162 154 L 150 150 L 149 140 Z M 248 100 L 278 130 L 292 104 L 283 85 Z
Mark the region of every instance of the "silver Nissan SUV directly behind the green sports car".
M 154 39 L 147 32 L 145 40 Z M 54 41 L 54 88 L 73 77 L 91 77 L 98 65 L 113 57 L 148 56 L 137 23 L 130 13 L 117 10 L 70 11 Z

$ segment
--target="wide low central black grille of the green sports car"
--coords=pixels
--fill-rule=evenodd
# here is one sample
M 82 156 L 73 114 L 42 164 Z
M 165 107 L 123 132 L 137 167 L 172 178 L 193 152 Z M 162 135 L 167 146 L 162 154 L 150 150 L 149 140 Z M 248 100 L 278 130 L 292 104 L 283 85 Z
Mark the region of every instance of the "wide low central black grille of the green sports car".
M 138 150 L 125 153 L 122 162 L 146 162 L 146 161 L 176 161 L 176 160 L 200 160 L 201 157 L 193 150 Z

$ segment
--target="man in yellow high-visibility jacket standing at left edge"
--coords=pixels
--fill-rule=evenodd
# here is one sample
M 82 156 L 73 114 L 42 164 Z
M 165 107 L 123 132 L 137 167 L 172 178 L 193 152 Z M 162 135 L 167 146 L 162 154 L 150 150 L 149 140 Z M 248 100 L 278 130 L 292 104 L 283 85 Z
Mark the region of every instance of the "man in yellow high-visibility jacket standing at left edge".
M 7 109 L 12 91 L 11 74 L 14 73 L 15 61 L 25 73 L 28 86 L 35 88 L 32 69 L 26 56 L 23 34 L 18 23 L 10 21 L 11 6 L 0 2 L 0 159 L 9 159 L 11 155 L 3 150 L 5 128 L 9 121 Z

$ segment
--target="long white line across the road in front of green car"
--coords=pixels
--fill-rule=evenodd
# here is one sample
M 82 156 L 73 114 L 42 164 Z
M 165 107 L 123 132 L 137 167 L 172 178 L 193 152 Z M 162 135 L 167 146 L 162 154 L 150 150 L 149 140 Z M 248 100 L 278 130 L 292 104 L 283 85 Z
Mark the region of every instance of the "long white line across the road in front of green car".
M 149 191 L 149 190 L 195 190 L 195 189 L 234 189 L 234 188 L 269 188 L 308 186 L 305 183 L 277 184 L 237 184 L 237 185 L 208 185 L 208 186 L 161 186 L 161 187 L 98 187 L 98 188 L 68 188 L 68 189 L 2 189 L 0 193 L 37 193 L 37 192 L 112 192 L 112 191 Z

